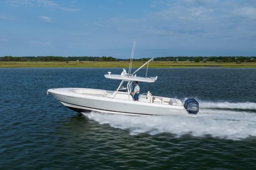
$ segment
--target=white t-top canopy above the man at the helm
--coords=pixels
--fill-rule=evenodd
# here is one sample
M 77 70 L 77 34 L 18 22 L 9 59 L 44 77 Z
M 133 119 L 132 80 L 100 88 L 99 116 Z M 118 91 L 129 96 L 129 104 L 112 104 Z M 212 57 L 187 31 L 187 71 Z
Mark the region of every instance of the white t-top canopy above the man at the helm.
M 156 77 L 146 78 L 146 77 L 137 77 L 137 76 L 129 76 L 129 75 L 118 75 L 118 74 L 105 74 L 105 78 L 113 79 L 113 80 L 124 80 L 124 81 L 138 81 L 145 83 L 154 83 L 157 80 Z

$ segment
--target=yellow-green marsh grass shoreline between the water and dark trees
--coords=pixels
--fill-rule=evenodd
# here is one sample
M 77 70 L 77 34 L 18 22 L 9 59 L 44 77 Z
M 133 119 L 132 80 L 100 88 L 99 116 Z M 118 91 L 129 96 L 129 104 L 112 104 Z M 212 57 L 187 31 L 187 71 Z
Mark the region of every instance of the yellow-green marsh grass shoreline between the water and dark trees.
M 144 62 L 133 62 L 132 68 L 140 67 Z M 0 62 L 0 68 L 128 68 L 129 62 Z M 146 67 L 146 66 L 145 66 Z M 215 63 L 215 62 L 152 62 L 149 68 L 256 68 L 256 62 Z

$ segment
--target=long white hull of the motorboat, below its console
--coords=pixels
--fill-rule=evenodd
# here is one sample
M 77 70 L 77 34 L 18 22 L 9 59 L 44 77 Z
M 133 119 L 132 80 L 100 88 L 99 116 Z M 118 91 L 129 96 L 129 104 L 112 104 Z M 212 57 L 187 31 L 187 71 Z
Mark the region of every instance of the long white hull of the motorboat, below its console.
M 188 116 L 183 105 L 169 105 L 149 102 L 140 102 L 118 98 L 109 98 L 97 95 L 74 93 L 72 90 L 81 88 L 49 89 L 48 94 L 53 95 L 63 105 L 78 111 L 97 111 L 109 114 L 133 115 L 133 116 Z M 91 89 L 96 90 L 96 89 Z

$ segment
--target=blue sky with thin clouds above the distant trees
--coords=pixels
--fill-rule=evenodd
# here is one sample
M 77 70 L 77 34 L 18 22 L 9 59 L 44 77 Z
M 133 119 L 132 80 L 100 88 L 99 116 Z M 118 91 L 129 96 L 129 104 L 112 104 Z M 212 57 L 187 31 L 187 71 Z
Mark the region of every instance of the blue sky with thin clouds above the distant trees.
M 1 0 L 0 56 L 256 56 L 256 1 Z

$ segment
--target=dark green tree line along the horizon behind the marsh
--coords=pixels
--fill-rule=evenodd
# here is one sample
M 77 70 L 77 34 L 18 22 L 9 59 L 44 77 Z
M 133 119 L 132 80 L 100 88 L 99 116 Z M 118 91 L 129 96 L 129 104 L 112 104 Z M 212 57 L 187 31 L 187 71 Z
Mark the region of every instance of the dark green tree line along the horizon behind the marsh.
M 134 59 L 134 61 L 148 61 L 150 58 Z M 118 62 L 130 59 L 117 59 L 112 56 L 2 56 L 0 62 L 68 62 L 94 61 Z M 154 61 L 187 61 L 187 62 L 256 62 L 256 56 L 165 56 L 155 58 Z

